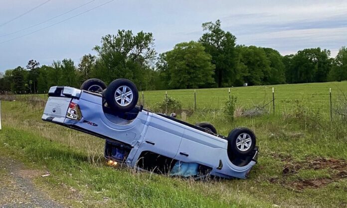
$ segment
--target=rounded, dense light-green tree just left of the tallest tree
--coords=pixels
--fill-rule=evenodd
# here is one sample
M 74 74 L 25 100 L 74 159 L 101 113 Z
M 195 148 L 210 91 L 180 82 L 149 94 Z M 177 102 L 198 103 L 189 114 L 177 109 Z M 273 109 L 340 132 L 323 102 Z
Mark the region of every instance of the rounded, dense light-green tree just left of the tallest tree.
M 166 54 L 170 76 L 169 87 L 174 89 L 210 86 L 214 65 L 211 55 L 198 42 L 182 42 Z

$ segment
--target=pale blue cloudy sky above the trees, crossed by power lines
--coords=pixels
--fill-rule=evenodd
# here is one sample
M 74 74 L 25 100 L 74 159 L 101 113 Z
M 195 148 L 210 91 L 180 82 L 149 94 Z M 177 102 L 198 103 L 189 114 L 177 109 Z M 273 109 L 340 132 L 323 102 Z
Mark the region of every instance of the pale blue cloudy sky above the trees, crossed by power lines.
M 0 0 L 0 25 L 47 0 Z M 182 41 L 197 40 L 201 23 L 220 19 L 237 44 L 272 47 L 282 55 L 309 47 L 327 48 L 335 56 L 347 45 L 346 0 L 94 0 L 72 12 L 34 25 L 91 0 L 49 0 L 44 5 L 0 26 L 0 71 L 71 58 L 77 65 L 106 34 L 118 29 L 153 32 L 156 50 L 164 52 Z M 26 36 L 23 36 L 26 35 Z M 17 39 L 13 39 L 23 36 Z M 13 40 L 10 40 L 13 39 Z M 10 41 L 7 41 L 10 40 Z

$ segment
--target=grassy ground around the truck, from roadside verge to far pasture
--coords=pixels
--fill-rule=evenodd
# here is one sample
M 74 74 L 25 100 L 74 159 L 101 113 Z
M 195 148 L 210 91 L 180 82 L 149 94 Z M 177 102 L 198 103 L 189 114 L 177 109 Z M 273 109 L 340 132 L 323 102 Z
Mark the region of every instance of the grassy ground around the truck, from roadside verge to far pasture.
M 347 123 L 327 115 L 329 88 L 336 103 L 347 82 L 274 87 L 275 115 L 225 119 L 227 88 L 196 90 L 197 110 L 179 115 L 190 123 L 209 121 L 224 135 L 238 126 L 253 129 L 261 154 L 247 180 L 200 182 L 108 167 L 102 159 L 104 141 L 42 122 L 42 101 L 1 102 L 0 156 L 49 170 L 51 177 L 35 179 L 37 187 L 73 207 L 346 207 Z M 168 90 L 184 101 L 183 108 L 192 108 L 192 93 Z M 271 86 L 232 88 L 231 93 L 243 108 L 272 99 Z M 165 91 L 144 95 L 151 108 Z

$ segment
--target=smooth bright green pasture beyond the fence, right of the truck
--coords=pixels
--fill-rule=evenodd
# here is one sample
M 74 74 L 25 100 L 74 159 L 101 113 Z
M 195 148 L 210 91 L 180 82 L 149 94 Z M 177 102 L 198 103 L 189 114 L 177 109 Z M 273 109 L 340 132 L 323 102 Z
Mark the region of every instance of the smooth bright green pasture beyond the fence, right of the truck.
M 292 109 L 295 105 L 294 100 L 308 101 L 311 107 L 329 112 L 329 89 L 332 88 L 332 97 L 335 101 L 341 90 L 346 91 L 347 82 L 230 87 L 230 94 L 236 96 L 238 105 L 244 108 L 264 106 L 272 101 L 272 87 L 275 90 L 275 110 L 278 113 Z M 229 88 L 196 89 L 197 108 L 221 108 L 229 98 L 228 90 Z M 183 108 L 194 108 L 194 89 L 145 91 L 145 106 L 153 106 L 156 102 L 162 101 L 166 92 L 169 96 L 180 100 Z M 142 102 L 142 92 L 140 100 Z M 272 111 L 272 103 L 267 109 Z

